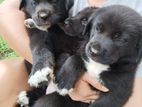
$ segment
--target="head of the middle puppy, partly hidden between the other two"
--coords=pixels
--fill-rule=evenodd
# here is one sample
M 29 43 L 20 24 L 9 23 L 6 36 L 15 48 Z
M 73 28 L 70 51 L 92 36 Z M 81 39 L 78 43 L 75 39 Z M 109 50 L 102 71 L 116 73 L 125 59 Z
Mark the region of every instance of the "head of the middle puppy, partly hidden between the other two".
M 80 11 L 77 15 L 65 20 L 63 30 L 70 36 L 83 36 L 84 29 L 88 23 L 88 18 L 97 8 L 89 7 Z

